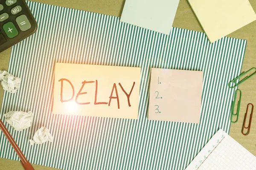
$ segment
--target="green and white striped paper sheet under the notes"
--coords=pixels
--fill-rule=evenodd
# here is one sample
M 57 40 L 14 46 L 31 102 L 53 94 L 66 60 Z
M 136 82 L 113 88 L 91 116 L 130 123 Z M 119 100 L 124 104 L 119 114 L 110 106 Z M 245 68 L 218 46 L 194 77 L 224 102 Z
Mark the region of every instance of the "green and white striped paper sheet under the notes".
M 0 118 L 5 122 L 11 110 L 35 113 L 22 132 L 5 122 L 31 163 L 64 170 L 183 170 L 219 128 L 229 132 L 236 89 L 227 83 L 241 72 L 246 40 L 210 44 L 197 31 L 172 28 L 166 36 L 118 17 L 27 3 L 39 28 L 12 48 L 8 71 L 22 84 L 17 94 L 4 93 Z M 141 67 L 138 119 L 52 114 L 55 62 Z M 147 119 L 152 67 L 204 71 L 200 124 Z M 30 146 L 41 126 L 54 142 Z M 3 133 L 0 157 L 19 160 Z

